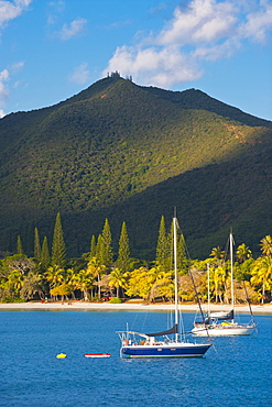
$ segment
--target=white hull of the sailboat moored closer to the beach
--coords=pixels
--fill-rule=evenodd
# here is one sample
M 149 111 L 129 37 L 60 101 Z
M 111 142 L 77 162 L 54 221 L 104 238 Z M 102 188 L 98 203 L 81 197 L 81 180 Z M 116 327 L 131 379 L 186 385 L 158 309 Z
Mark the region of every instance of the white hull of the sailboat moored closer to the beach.
M 236 336 L 250 336 L 255 326 L 240 326 L 236 323 L 229 324 L 214 324 L 207 326 L 204 324 L 193 328 L 192 333 L 197 337 L 236 337 Z

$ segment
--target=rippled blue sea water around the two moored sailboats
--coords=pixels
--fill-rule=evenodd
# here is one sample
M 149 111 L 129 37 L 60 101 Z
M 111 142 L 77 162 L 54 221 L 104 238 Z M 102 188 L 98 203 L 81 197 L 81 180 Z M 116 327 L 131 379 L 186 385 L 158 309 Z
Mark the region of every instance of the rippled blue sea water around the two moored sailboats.
M 257 316 L 251 337 L 215 338 L 204 359 L 120 359 L 117 330 L 126 322 L 160 330 L 166 318 L 143 311 L 0 311 L 0 406 L 272 405 L 272 316 Z M 184 314 L 185 329 L 193 320 Z M 67 358 L 56 359 L 61 352 Z M 111 358 L 84 356 L 93 352 Z

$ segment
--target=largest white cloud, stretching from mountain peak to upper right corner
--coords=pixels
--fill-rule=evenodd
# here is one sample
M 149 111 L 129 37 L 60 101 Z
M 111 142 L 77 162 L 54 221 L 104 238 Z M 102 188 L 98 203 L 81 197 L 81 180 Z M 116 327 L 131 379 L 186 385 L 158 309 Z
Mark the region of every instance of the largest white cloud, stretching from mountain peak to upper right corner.
M 204 61 L 229 58 L 246 40 L 265 42 L 271 28 L 270 0 L 192 0 L 175 9 L 156 36 L 117 47 L 104 74 L 118 70 L 160 87 L 195 80 Z

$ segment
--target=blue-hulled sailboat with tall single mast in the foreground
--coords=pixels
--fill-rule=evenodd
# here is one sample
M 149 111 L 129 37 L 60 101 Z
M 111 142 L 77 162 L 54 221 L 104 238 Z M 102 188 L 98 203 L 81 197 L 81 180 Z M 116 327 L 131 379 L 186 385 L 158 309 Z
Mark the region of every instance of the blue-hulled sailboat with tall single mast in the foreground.
M 171 329 L 154 333 L 139 333 L 127 329 L 118 331 L 121 340 L 121 358 L 202 358 L 211 343 L 189 343 L 179 333 L 178 288 L 177 288 L 177 219 L 173 218 L 174 230 L 174 286 L 175 323 Z

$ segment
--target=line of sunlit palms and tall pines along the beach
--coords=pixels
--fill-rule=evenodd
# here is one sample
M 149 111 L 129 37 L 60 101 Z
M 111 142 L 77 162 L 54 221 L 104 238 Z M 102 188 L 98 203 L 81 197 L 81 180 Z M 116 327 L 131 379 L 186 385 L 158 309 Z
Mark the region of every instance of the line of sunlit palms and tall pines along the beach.
M 260 255 L 253 258 L 250 249 L 240 244 L 235 251 L 236 301 L 271 300 L 272 237 L 260 241 Z M 20 235 L 17 253 L 0 260 L 0 301 L 25 300 L 93 300 L 140 298 L 150 301 L 173 301 L 174 297 L 173 224 L 166 228 L 162 216 L 153 262 L 132 258 L 126 222 L 122 222 L 118 253 L 113 253 L 108 219 L 101 233 L 90 239 L 89 252 L 79 258 L 68 258 L 61 213 L 50 249 L 47 238 L 41 244 L 34 230 L 34 255 L 23 252 Z M 206 260 L 188 256 L 185 239 L 177 240 L 177 270 L 181 301 L 207 300 L 207 265 L 209 265 L 209 296 L 211 301 L 230 301 L 230 261 L 228 251 L 214 248 Z M 244 289 L 246 288 L 246 289 Z

